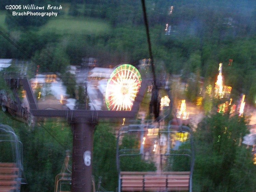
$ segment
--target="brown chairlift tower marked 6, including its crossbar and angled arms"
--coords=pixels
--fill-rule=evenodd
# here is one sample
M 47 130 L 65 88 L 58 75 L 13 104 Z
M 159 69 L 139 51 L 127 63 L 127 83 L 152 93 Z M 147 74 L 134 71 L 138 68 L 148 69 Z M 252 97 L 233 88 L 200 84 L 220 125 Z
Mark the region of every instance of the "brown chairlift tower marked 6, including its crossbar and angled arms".
M 105 110 L 40 110 L 28 79 L 21 79 L 29 101 L 30 113 L 37 117 L 65 117 L 71 123 L 73 134 L 72 192 L 91 192 L 93 171 L 93 132 L 99 118 L 134 118 L 146 90 L 147 80 L 141 87 L 130 111 Z

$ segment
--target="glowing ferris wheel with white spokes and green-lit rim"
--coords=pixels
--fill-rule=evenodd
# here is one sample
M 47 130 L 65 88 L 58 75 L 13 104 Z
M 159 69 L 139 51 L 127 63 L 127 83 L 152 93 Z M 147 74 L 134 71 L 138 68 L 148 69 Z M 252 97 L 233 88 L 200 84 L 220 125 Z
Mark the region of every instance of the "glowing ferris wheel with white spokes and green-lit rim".
M 105 101 L 109 110 L 131 110 L 141 86 L 140 72 L 130 64 L 118 66 L 110 75 Z

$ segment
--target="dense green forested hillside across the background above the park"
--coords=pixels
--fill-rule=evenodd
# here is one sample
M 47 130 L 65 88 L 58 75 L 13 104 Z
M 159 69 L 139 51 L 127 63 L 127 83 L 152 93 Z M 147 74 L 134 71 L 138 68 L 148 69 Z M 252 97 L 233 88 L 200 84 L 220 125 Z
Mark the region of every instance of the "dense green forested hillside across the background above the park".
M 12 16 L 11 10 L 4 11 L 7 4 L 62 4 L 62 10 L 57 10 L 57 18 L 18 17 Z M 105 67 L 125 62 L 137 65 L 138 60 L 149 57 L 140 1 L 24 0 L 1 2 L 0 7 L 6 14 L 2 27 L 27 53 L 17 51 L 1 36 L 1 58 L 32 59 L 42 70 L 64 72 L 64 66 L 80 65 L 84 57 L 99 58 Z M 218 63 L 226 65 L 232 59 L 232 69 L 223 69 L 226 82 L 232 84 L 233 92 L 246 94 L 248 102 L 255 102 L 255 1 L 149 0 L 146 9 L 158 65 L 163 63 L 167 72 L 174 74 L 183 69 L 185 79 L 190 73 L 199 73 L 213 84 Z M 64 23 L 56 26 L 59 19 L 71 19 L 72 23 L 76 18 L 92 23 L 74 25 L 82 31 L 75 38 L 69 29 L 60 31 Z M 171 27 L 169 35 L 165 35 L 166 24 Z M 93 31 L 83 32 L 89 28 Z M 238 80 L 239 76 L 244 78 Z

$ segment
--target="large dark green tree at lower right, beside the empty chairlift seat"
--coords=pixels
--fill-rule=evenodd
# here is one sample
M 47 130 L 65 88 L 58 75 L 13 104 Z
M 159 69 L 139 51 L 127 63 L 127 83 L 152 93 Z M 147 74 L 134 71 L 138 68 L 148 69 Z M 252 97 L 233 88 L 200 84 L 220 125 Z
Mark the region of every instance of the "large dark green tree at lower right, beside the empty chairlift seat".
M 232 191 L 242 188 L 239 183 L 233 182 L 232 178 L 239 180 L 242 177 L 240 174 L 233 174 L 234 170 L 241 173 L 240 162 L 238 163 L 240 154 L 246 154 L 248 157 L 243 158 L 246 165 L 252 164 L 250 153 L 246 152 L 243 144 L 241 145 L 246 133 L 245 118 L 238 115 L 228 117 L 226 114 L 216 113 L 198 124 L 194 134 L 196 160 L 193 180 L 196 190 Z M 254 181 L 250 179 L 250 182 Z

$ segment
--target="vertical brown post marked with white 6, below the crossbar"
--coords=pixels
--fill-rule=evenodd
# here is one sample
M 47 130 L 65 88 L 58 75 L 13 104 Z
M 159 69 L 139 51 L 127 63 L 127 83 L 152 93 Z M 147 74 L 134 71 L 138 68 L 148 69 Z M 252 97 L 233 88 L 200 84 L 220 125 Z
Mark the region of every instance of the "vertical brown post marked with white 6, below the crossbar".
M 75 118 L 71 122 L 73 132 L 72 192 L 91 192 L 95 125 L 96 122 L 87 118 Z

